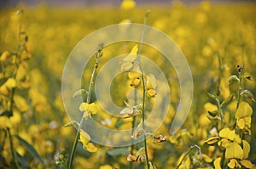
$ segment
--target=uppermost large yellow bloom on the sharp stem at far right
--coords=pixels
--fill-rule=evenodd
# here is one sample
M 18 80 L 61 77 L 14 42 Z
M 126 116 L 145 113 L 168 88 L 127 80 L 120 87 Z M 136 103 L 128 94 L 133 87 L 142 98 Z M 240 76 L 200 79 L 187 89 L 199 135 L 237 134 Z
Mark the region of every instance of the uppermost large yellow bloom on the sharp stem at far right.
M 241 102 L 236 110 L 236 124 L 241 129 L 247 129 L 251 127 L 251 115 L 253 114 L 252 107 L 246 102 Z

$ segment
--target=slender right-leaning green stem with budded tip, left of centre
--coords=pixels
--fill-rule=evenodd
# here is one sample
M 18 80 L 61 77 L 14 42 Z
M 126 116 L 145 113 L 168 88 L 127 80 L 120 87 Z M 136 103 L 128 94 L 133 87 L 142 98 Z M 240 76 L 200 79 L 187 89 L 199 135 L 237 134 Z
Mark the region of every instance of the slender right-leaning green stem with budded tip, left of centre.
M 92 86 L 94 84 L 96 69 L 98 68 L 98 65 L 99 65 L 99 62 L 100 62 L 100 57 L 102 56 L 102 48 L 103 48 L 103 46 L 102 46 L 102 44 L 100 44 L 99 47 L 98 47 L 97 54 L 96 54 L 96 64 L 95 64 L 94 69 L 92 71 L 92 74 L 90 76 L 90 85 L 89 85 L 89 88 L 88 88 L 88 95 L 87 95 L 87 99 L 86 99 L 87 104 L 90 103 L 90 94 L 91 94 L 91 91 L 92 91 Z M 81 120 L 79 122 L 79 128 L 78 128 L 77 133 L 76 133 L 76 138 L 73 142 L 73 148 L 72 148 L 70 159 L 69 159 L 68 169 L 73 168 L 73 158 L 74 158 L 74 154 L 75 154 L 77 145 L 79 143 L 79 135 L 80 135 L 80 130 L 81 130 L 83 121 L 84 121 L 84 113 L 83 113 L 83 115 L 81 117 Z

